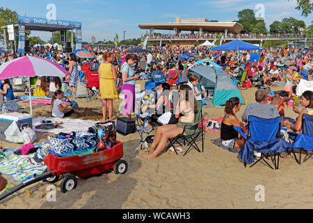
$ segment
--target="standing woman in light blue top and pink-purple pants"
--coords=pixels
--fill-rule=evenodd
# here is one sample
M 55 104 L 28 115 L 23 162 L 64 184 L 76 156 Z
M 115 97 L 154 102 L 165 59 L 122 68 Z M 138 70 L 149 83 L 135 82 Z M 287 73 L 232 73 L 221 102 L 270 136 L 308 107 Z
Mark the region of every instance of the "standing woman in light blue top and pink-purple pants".
M 125 95 L 125 116 L 131 119 L 131 114 L 135 111 L 135 85 L 139 75 L 135 75 L 133 67 L 136 66 L 137 56 L 135 54 L 127 54 L 125 63 L 122 65 L 122 91 Z

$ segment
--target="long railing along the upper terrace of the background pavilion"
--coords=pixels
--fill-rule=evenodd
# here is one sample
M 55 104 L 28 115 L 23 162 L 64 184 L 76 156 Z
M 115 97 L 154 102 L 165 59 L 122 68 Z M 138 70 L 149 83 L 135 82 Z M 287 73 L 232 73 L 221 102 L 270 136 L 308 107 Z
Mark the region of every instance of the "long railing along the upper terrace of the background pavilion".
M 305 38 L 305 34 L 303 33 L 282 33 L 282 34 L 257 34 L 257 33 L 250 33 L 250 34 L 223 34 L 224 39 L 295 39 L 295 38 Z M 218 38 L 216 33 L 203 33 L 203 34 L 187 34 L 181 33 L 178 35 L 175 34 L 154 34 L 149 36 L 150 40 L 197 40 L 197 39 L 211 39 L 215 40 Z M 142 40 L 145 38 L 142 36 Z

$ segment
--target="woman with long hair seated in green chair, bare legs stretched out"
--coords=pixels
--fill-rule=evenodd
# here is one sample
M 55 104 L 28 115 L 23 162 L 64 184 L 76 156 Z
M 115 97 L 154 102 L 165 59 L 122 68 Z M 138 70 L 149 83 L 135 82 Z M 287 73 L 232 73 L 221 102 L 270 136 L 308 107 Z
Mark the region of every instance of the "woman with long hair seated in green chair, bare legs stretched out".
M 176 118 L 179 118 L 177 125 L 163 125 L 157 129 L 152 145 L 148 149 L 150 155 L 143 155 L 144 158 L 156 158 L 163 149 L 166 148 L 169 139 L 177 137 L 179 134 L 191 135 L 194 134 L 195 128 L 187 127 L 195 123 L 195 113 L 197 106 L 195 105 L 195 96 L 193 90 L 188 85 L 182 85 L 179 88 L 179 102 L 175 112 Z M 184 151 L 178 151 L 184 152 Z

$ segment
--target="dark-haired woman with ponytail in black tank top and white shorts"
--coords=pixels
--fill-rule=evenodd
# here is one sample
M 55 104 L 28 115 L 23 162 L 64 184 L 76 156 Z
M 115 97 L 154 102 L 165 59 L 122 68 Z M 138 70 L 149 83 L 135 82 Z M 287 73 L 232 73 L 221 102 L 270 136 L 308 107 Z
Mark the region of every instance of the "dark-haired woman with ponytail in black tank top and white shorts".
M 244 141 L 239 139 L 239 133 L 234 130 L 235 126 L 244 127 L 243 123 L 236 117 L 240 107 L 241 102 L 239 98 L 230 98 L 225 105 L 225 117 L 220 128 L 220 139 L 223 146 L 227 148 L 243 148 L 244 145 Z

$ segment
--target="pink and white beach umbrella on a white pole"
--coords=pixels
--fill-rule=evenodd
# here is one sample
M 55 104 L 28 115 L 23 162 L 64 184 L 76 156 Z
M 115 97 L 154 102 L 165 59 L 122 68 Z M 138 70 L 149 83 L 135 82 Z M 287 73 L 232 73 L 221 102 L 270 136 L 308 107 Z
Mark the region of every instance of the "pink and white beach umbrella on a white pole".
M 12 77 L 65 77 L 70 72 L 48 59 L 37 56 L 22 56 L 0 66 L 0 79 Z M 29 80 L 29 103 L 31 104 L 31 85 Z M 33 109 L 31 107 L 31 115 Z

